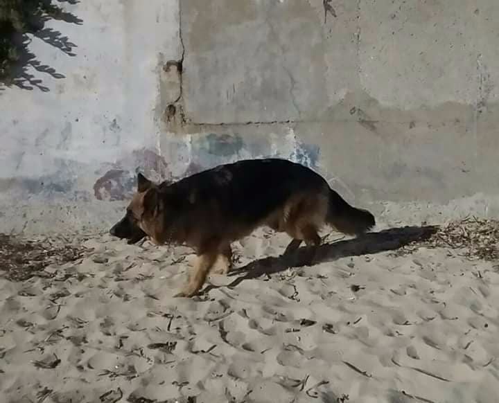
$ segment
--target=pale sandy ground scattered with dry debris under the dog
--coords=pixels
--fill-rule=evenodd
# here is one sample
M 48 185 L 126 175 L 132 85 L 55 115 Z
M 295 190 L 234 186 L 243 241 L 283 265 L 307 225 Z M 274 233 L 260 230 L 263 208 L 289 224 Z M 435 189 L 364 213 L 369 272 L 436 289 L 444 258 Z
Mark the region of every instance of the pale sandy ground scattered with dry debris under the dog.
M 401 234 L 288 269 L 266 258 L 286 235 L 258 231 L 191 299 L 173 298 L 190 249 L 91 238 L 44 278 L 0 279 L 0 401 L 498 402 L 498 267 L 400 253 Z

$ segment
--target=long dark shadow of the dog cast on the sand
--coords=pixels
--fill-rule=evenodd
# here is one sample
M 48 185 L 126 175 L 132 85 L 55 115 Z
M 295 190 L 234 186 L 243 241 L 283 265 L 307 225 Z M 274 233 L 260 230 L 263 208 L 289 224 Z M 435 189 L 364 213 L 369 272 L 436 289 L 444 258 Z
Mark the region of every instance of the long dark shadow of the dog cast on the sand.
M 291 267 L 312 266 L 348 256 L 394 251 L 411 242 L 428 240 L 437 230 L 438 226 L 405 226 L 376 233 L 367 233 L 351 240 L 322 244 L 317 248 L 312 259 L 310 259 L 310 249 L 301 247 L 292 256 L 270 256 L 233 269 L 227 276 L 238 276 L 234 281 L 225 286 L 208 285 L 202 294 L 219 287 L 233 288 L 249 278 L 257 278 L 263 274 L 279 273 Z

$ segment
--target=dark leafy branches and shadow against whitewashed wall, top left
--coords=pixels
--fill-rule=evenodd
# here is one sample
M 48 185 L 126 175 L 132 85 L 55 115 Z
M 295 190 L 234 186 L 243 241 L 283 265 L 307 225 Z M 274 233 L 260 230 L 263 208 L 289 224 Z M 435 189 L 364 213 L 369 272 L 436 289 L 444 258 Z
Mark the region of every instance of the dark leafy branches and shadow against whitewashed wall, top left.
M 82 24 L 82 19 L 64 11 L 59 4 L 74 5 L 79 2 L 80 0 L 0 0 L 0 91 L 11 86 L 49 91 L 37 73 L 49 74 L 53 78 L 65 77 L 53 67 L 37 60 L 37 55 L 29 51 L 28 47 L 33 35 L 69 56 L 76 56 L 73 53 L 76 45 L 58 30 L 45 25 L 50 20 Z M 35 72 L 32 73 L 33 70 Z

